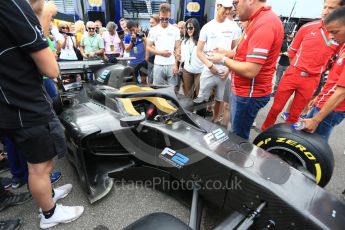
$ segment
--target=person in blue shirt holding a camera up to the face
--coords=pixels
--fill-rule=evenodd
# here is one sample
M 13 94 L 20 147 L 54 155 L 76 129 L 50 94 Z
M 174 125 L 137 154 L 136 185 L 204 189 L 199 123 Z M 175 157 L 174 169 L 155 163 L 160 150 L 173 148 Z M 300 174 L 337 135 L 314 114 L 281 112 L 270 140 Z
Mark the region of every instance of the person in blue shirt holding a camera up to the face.
M 127 22 L 127 29 L 130 34 L 124 37 L 125 51 L 129 52 L 130 57 L 135 57 L 129 65 L 134 69 L 134 77 L 138 82 L 137 76 L 140 76 L 140 83 L 147 84 L 147 62 L 145 61 L 145 34 L 139 32 L 139 24 L 134 21 Z

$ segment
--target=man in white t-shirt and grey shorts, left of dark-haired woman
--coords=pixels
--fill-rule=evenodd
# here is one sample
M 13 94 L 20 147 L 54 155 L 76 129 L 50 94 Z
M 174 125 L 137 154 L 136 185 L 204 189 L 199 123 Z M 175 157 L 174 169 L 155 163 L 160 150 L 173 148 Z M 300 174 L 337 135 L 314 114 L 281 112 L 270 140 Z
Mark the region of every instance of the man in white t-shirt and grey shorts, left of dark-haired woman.
M 169 24 L 171 9 L 168 3 L 162 3 L 159 7 L 160 24 L 150 30 L 147 39 L 147 49 L 155 54 L 153 67 L 154 85 L 177 84 L 175 75 L 178 72 L 178 64 L 174 53 L 179 53 L 180 31 Z

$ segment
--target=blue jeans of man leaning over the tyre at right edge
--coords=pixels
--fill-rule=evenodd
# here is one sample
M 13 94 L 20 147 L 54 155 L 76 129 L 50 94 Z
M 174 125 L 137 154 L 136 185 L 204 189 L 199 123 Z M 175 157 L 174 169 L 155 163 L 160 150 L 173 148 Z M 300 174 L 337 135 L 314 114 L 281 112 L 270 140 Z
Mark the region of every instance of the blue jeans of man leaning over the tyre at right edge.
M 314 106 L 309 113 L 307 114 L 307 118 L 315 117 L 315 115 L 320 111 L 319 108 Z M 319 134 L 328 142 L 329 136 L 332 133 L 332 130 L 335 126 L 339 125 L 345 118 L 345 112 L 331 112 L 328 114 L 323 121 L 320 122 L 319 126 L 317 127 L 315 133 Z

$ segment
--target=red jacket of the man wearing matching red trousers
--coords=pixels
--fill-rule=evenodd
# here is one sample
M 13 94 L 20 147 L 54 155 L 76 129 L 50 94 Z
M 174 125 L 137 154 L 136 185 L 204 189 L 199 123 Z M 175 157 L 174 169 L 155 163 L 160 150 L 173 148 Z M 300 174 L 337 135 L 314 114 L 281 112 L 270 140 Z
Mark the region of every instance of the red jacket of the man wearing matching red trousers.
M 338 48 L 336 42 L 328 39 L 321 20 L 307 23 L 297 32 L 290 46 L 291 65 L 310 74 L 321 74 Z

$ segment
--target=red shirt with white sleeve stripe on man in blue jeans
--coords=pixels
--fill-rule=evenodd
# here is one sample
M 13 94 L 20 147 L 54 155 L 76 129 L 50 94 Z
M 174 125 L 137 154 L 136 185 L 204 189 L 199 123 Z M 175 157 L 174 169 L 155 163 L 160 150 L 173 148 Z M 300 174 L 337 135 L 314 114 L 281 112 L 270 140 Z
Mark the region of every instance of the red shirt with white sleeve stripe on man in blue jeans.
M 263 97 L 271 93 L 283 38 L 282 22 L 271 7 L 262 7 L 250 17 L 234 60 L 257 63 L 262 68 L 253 79 L 233 73 L 232 92 L 236 96 Z

